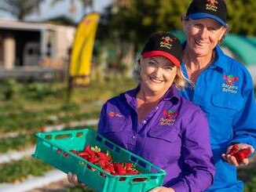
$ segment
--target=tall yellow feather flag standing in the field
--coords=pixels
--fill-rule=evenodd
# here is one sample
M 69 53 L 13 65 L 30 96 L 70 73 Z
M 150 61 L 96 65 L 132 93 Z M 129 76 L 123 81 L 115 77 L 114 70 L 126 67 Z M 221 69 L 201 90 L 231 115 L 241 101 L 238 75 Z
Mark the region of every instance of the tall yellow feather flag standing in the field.
M 69 67 L 69 76 L 73 85 L 90 83 L 93 45 L 99 19 L 98 13 L 90 13 L 82 19 L 76 29 Z

